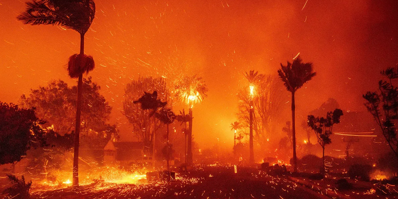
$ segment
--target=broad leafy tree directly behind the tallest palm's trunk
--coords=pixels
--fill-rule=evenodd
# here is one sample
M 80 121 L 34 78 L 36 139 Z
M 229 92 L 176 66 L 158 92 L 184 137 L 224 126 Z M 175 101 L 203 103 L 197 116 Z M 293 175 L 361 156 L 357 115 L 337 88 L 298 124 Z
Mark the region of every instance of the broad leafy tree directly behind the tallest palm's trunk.
M 80 145 L 105 146 L 110 139 L 118 137 L 116 126 L 108 124 L 112 107 L 100 90 L 91 77 L 83 78 Z M 76 85 L 70 87 L 62 80 L 53 80 L 23 94 L 19 104 L 23 108 L 35 107 L 36 116 L 46 121 L 43 127 L 65 135 L 76 126 L 76 94 Z

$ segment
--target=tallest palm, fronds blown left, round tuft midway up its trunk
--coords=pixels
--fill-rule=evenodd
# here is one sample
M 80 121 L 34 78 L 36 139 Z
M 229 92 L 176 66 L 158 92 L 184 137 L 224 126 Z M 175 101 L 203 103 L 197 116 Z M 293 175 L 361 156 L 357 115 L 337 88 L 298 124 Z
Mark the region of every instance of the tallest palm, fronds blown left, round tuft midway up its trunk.
M 31 25 L 62 25 L 80 34 L 80 54 L 72 55 L 68 62 L 69 76 L 71 78 L 78 78 L 73 156 L 73 185 L 78 186 L 82 78 L 84 72 L 88 73 L 94 69 L 94 59 L 84 54 L 84 35 L 94 20 L 96 6 L 94 0 L 32 0 L 26 4 L 26 11 L 17 17 L 23 23 Z

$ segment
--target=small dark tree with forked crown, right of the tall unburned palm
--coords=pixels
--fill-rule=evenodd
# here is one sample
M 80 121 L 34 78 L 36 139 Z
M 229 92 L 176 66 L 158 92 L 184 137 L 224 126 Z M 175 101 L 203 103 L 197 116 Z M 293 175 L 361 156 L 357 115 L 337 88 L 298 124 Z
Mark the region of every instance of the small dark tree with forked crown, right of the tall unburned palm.
M 308 115 L 308 127 L 314 130 L 318 143 L 322 146 L 322 173 L 325 172 L 325 146 L 332 143 L 329 137 L 332 135 L 333 125 L 340 123 L 341 115 L 343 115 L 341 109 L 329 111 L 326 118 Z

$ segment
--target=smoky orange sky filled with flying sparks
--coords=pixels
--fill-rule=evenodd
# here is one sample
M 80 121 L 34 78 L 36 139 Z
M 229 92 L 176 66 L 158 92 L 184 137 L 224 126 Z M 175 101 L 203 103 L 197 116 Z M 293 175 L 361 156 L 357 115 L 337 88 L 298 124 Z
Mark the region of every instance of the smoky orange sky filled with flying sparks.
M 365 111 L 362 94 L 376 89 L 380 70 L 398 62 L 393 0 L 95 2 L 96 19 L 85 40 L 85 52 L 96 62 L 89 75 L 113 107 L 111 122 L 121 123 L 122 139 L 131 137 L 121 113 L 125 84 L 139 76 L 202 76 L 209 93 L 194 108 L 195 140 L 211 146 L 219 138 L 230 147 L 244 71 L 275 74 L 298 53 L 314 62 L 318 75 L 296 94 L 300 119 L 328 98 L 345 110 Z M 24 0 L 0 0 L 4 102 L 17 103 L 52 79 L 75 84 L 65 64 L 79 51 L 78 33 L 23 25 L 16 16 L 24 9 Z M 289 111 L 281 117 L 289 119 Z

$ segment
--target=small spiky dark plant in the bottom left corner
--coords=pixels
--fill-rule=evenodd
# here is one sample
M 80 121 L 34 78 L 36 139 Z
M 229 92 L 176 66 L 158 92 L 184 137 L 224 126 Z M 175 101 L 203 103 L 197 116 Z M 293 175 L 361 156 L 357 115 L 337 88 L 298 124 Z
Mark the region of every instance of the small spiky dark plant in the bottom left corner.
M 25 178 L 23 176 L 21 179 L 18 179 L 14 175 L 7 175 L 7 177 L 12 186 L 5 189 L 4 193 L 13 199 L 29 199 L 29 189 L 32 185 L 32 181 L 25 183 Z

